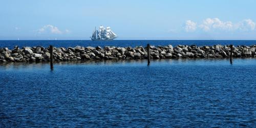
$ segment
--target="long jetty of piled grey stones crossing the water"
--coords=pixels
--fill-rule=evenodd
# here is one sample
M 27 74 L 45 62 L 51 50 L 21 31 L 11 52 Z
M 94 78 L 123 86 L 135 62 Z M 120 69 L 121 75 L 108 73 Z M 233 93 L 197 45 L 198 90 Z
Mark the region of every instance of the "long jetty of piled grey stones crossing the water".
M 232 46 L 232 57 L 256 57 L 256 45 Z M 0 62 L 50 61 L 50 49 L 15 46 L 12 50 L 0 48 Z M 152 59 L 172 58 L 226 58 L 230 57 L 230 46 L 196 46 L 178 45 L 150 46 Z M 71 60 L 109 60 L 109 59 L 146 59 L 146 47 L 81 47 L 53 48 L 54 61 Z

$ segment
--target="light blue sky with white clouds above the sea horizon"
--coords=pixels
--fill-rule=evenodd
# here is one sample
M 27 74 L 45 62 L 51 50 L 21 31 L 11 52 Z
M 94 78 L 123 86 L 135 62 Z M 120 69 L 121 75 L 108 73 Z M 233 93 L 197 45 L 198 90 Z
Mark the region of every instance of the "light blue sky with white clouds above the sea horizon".
M 254 0 L 0 1 L 0 39 L 256 39 Z

